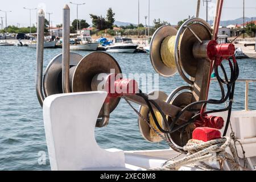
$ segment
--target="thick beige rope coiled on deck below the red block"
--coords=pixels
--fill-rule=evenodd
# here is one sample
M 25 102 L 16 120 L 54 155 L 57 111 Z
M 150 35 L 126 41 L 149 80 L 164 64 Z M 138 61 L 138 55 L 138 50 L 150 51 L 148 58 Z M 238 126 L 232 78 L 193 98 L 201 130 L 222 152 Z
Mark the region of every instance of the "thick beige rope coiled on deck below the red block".
M 226 152 L 226 148 L 228 147 L 232 155 Z M 183 150 L 188 152 L 187 156 L 176 161 L 167 162 L 162 168 L 156 168 L 153 170 L 178 170 L 181 166 L 195 164 L 196 162 L 204 162 L 210 159 L 214 159 L 219 162 L 227 160 L 227 162 L 231 164 L 233 171 L 246 170 L 246 168 L 240 165 L 236 150 L 229 137 L 210 140 L 209 142 L 191 139 L 188 141 L 187 145 L 184 146 Z M 209 167 L 205 163 L 203 164 L 206 169 L 215 169 Z

